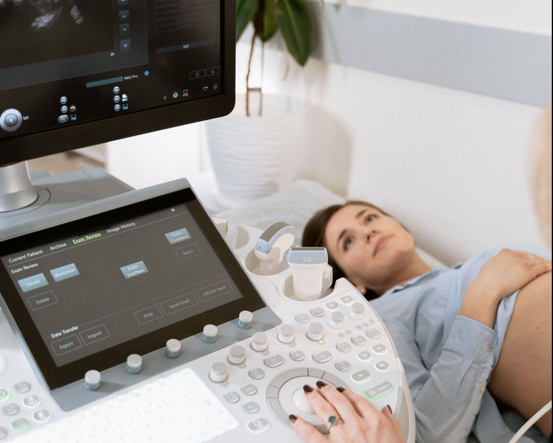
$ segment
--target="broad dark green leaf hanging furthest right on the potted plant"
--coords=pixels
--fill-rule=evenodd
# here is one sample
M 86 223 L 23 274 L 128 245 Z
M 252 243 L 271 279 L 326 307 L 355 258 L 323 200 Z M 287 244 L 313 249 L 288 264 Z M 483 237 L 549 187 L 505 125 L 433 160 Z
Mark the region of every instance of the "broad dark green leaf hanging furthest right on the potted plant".
M 303 0 L 278 0 L 278 22 L 290 54 L 301 66 L 311 54 L 311 18 Z

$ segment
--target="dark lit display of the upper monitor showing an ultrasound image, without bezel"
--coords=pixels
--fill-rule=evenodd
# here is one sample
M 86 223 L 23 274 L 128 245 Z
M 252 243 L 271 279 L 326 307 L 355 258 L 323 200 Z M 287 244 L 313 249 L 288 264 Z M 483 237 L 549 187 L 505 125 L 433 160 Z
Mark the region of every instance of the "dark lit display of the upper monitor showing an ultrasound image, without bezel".
M 222 94 L 221 3 L 0 0 L 0 142 Z

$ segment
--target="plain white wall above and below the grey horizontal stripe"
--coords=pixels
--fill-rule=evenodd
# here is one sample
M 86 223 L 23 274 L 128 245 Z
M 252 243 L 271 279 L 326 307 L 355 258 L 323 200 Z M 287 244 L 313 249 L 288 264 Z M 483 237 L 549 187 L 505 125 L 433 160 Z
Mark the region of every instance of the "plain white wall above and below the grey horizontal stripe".
M 386 9 L 551 34 L 550 2 L 534 2 L 530 11 L 522 1 L 492 3 L 392 0 Z M 238 91 L 244 91 L 248 50 L 247 43 L 238 45 Z M 259 81 L 254 75 L 252 83 Z M 263 88 L 303 97 L 309 106 L 306 148 L 315 150 L 317 166 L 306 177 L 382 205 L 442 261 L 453 264 L 505 242 L 542 245 L 526 168 L 538 107 L 320 60 L 301 69 L 269 49 Z

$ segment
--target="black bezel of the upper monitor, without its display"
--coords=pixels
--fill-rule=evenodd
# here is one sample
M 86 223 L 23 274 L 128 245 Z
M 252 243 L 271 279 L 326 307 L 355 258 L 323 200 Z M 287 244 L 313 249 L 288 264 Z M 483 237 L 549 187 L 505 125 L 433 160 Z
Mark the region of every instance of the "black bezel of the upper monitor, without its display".
M 8 137 L 0 140 L 0 167 L 228 115 L 236 95 L 236 0 L 221 1 L 221 66 L 219 95 Z

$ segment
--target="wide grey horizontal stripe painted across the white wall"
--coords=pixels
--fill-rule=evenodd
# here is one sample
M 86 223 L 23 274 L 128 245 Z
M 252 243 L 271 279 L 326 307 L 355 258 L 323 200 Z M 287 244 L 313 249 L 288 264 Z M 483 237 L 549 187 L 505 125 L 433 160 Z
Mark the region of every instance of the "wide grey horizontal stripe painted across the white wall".
M 551 37 L 319 0 L 309 7 L 316 58 L 531 105 L 551 95 Z

